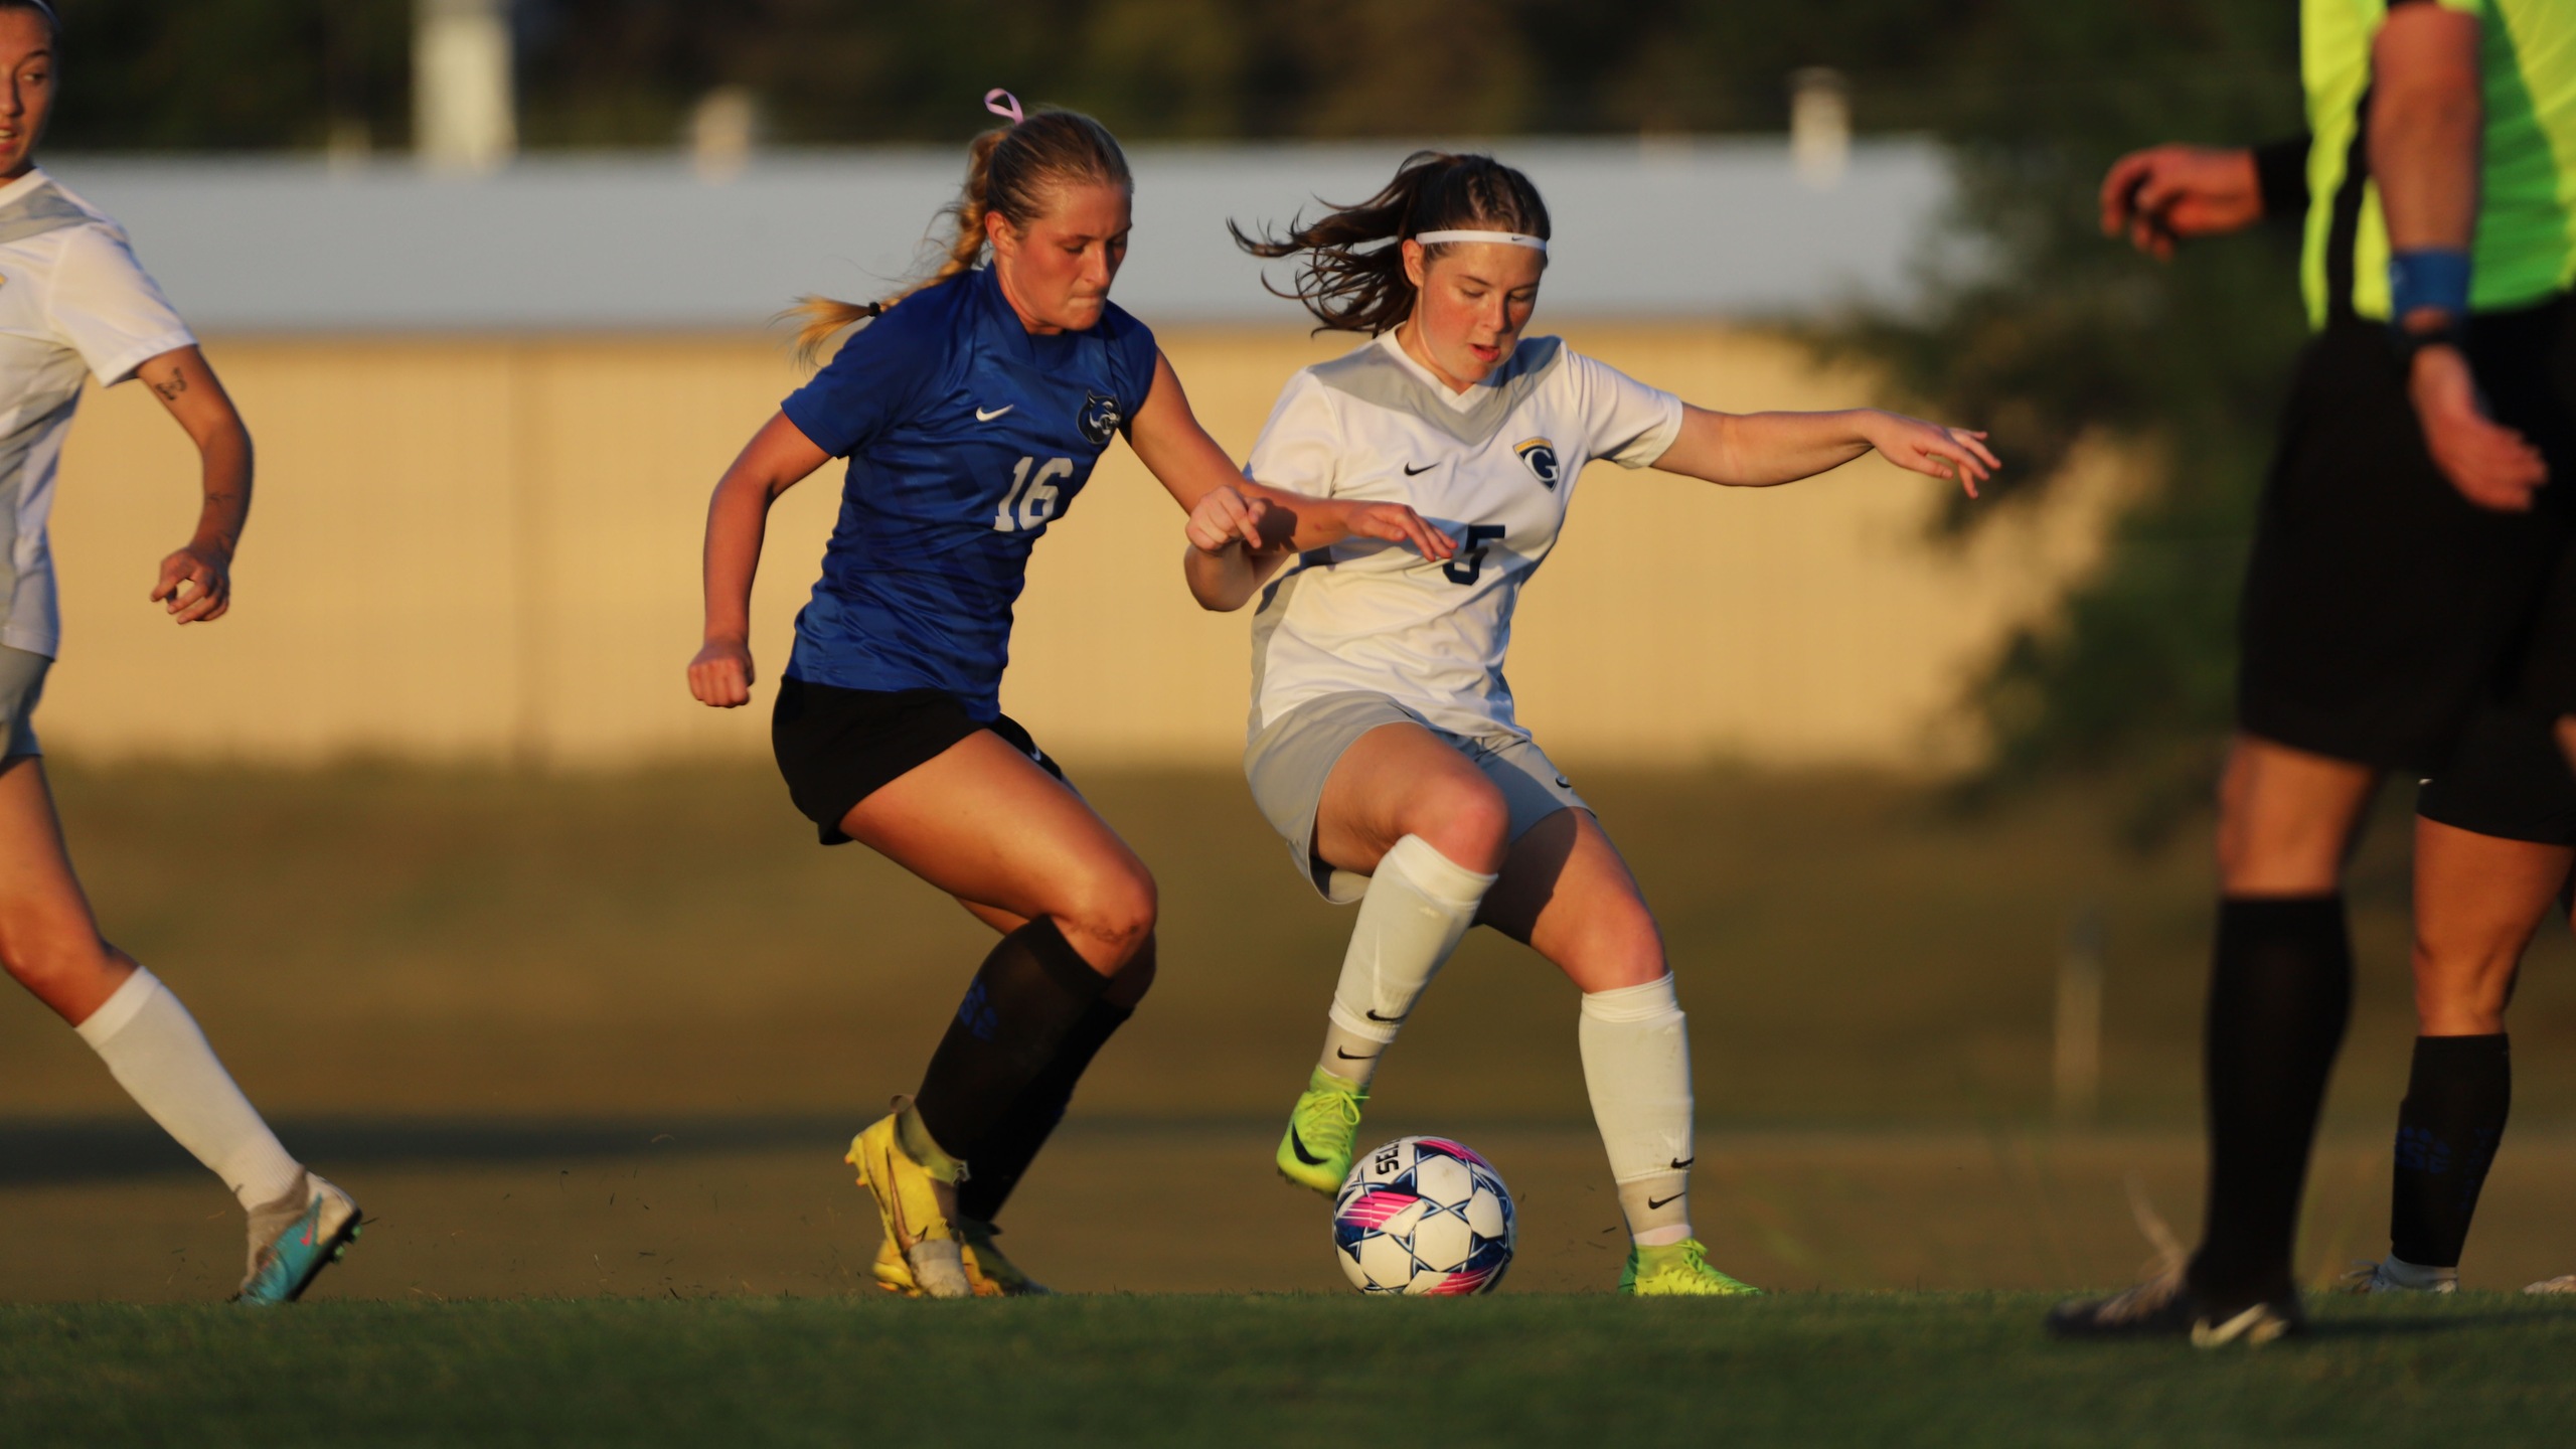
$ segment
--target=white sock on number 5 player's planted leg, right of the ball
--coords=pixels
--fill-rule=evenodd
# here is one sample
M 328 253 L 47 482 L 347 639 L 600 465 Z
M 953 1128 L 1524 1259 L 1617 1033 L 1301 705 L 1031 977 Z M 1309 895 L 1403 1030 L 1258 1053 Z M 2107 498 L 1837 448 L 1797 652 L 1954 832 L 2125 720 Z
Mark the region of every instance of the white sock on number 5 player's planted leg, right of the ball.
M 1690 1026 L 1672 975 L 1584 993 L 1584 1085 L 1638 1248 L 1690 1238 Z

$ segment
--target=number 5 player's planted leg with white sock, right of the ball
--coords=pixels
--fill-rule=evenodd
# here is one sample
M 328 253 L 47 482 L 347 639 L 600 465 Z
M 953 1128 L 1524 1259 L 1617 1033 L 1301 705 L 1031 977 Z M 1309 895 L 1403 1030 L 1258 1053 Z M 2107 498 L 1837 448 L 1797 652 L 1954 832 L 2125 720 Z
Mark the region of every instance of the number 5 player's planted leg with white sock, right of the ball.
M 1690 1026 L 1664 933 L 1600 820 L 1558 810 L 1528 828 L 1481 920 L 1530 944 L 1584 993 L 1584 1083 L 1633 1240 L 1620 1292 L 1754 1292 L 1710 1269 L 1690 1230 Z

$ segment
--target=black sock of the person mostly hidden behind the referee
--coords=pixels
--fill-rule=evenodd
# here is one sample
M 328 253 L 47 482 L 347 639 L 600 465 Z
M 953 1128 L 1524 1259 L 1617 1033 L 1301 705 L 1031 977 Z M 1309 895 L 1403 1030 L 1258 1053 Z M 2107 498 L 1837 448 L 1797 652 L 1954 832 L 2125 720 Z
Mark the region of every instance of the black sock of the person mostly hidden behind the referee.
M 2458 1269 L 2478 1189 L 2514 1106 L 2514 1057 L 2494 1036 L 2416 1036 L 2398 1104 L 2398 1173 L 2388 1248 L 2419 1269 Z

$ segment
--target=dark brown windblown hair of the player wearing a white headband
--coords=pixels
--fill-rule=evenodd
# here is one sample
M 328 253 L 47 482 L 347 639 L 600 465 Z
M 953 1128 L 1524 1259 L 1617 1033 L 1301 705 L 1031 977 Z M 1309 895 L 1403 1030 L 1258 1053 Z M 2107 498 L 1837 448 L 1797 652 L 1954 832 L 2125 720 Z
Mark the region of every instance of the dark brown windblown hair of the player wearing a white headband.
M 1327 201 L 1327 206 L 1332 206 Z M 1414 152 L 1383 191 L 1358 206 L 1332 206 L 1314 224 L 1291 222 L 1288 237 L 1247 237 L 1226 222 L 1234 245 L 1257 258 L 1303 255 L 1293 297 L 1314 312 L 1319 333 L 1378 335 L 1414 312 L 1414 284 L 1404 276 L 1404 237 L 1450 229 L 1504 229 L 1548 235 L 1548 204 L 1528 175 L 1489 155 Z M 1425 260 L 1448 242 L 1425 248 Z

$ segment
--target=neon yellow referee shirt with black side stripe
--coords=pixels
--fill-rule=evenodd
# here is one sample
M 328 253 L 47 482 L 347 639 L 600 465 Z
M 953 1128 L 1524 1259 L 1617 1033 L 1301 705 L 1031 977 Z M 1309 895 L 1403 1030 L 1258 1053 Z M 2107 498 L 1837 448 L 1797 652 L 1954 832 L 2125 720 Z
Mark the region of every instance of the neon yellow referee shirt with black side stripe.
M 2478 18 L 2486 72 L 2486 144 L 2473 312 L 2527 307 L 2576 281 L 2576 0 L 2414 0 Z M 2388 0 L 2303 0 L 2300 77 L 2308 90 L 2308 224 L 2300 289 L 2308 325 L 2324 327 L 2336 291 L 2352 312 L 2388 320 L 2388 222 L 2362 178 L 2362 98 L 2370 41 Z

